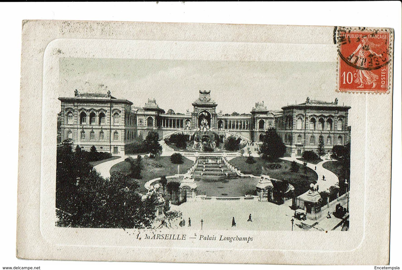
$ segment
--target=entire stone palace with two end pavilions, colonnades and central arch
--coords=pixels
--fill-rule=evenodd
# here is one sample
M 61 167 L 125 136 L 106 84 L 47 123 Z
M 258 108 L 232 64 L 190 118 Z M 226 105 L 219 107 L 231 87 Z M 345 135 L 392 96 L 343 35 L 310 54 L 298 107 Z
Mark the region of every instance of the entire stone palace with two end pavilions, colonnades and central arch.
M 351 107 L 333 102 L 306 99 L 306 102 L 287 105 L 280 111 L 267 109 L 256 103 L 250 114 L 223 115 L 217 112 L 217 103 L 210 91 L 199 91 L 192 103 L 193 111 L 184 114 L 166 114 L 148 99 L 144 107 L 134 107 L 131 101 L 116 99 L 107 94 L 88 94 L 75 91 L 74 97 L 60 97 L 58 141 L 72 139 L 74 145 L 89 150 L 124 154 L 125 145 L 135 139 L 145 139 L 149 131 L 160 138 L 173 133 L 194 134 L 211 130 L 224 137 L 234 136 L 243 141 L 262 143 L 265 131 L 275 128 L 287 148 L 287 155 L 301 156 L 304 151 L 316 151 L 320 141 L 329 152 L 334 145 L 345 145 L 350 140 L 348 111 Z

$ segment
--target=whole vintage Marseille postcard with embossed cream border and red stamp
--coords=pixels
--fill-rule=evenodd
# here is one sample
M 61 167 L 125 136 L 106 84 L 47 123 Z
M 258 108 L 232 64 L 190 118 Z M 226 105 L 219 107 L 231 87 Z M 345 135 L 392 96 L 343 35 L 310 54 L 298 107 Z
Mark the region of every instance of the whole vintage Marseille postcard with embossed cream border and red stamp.
M 388 264 L 392 28 L 39 20 L 22 44 L 18 258 Z

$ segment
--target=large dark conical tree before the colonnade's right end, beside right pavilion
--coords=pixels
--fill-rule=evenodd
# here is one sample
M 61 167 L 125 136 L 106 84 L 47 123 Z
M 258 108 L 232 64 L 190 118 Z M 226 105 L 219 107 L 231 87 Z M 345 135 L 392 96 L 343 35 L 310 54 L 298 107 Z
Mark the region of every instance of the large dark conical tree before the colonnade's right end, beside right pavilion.
M 264 159 L 269 160 L 278 159 L 285 154 L 286 146 L 283 144 L 281 137 L 279 137 L 275 129 L 270 128 L 265 132 L 260 152 L 263 154 Z

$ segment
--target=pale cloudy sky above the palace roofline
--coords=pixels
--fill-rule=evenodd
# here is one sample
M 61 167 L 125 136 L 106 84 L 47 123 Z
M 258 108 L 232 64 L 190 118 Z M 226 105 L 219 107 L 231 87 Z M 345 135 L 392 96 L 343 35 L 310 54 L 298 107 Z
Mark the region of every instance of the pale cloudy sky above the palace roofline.
M 160 108 L 176 113 L 192 111 L 199 90 L 210 90 L 222 113 L 249 113 L 262 101 L 267 109 L 278 110 L 307 97 L 338 97 L 343 103 L 335 91 L 336 62 L 60 58 L 59 96 L 73 97 L 75 89 L 110 90 L 137 107 L 156 99 Z

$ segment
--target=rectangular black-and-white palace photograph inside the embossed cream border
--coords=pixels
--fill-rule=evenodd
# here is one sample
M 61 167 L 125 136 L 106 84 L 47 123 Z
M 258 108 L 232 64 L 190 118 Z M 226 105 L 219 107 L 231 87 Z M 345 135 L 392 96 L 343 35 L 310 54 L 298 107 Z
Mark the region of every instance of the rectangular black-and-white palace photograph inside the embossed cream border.
M 59 64 L 57 226 L 348 230 L 353 110 L 307 96 L 333 64 Z

